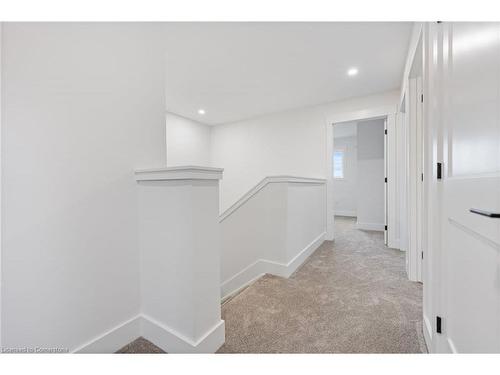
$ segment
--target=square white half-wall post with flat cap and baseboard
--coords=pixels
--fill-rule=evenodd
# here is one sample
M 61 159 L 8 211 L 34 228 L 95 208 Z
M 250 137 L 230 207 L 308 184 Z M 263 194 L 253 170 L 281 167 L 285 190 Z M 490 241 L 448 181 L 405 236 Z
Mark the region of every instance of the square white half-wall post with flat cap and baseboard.
M 141 314 L 149 322 L 143 334 L 168 353 L 199 351 L 197 343 L 206 340 L 212 344 L 202 350 L 213 353 L 224 343 L 218 201 L 221 177 L 222 170 L 215 168 L 136 172 Z M 170 334 L 165 335 L 165 331 Z M 177 345 L 179 340 L 184 341 L 182 346 Z

